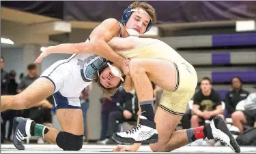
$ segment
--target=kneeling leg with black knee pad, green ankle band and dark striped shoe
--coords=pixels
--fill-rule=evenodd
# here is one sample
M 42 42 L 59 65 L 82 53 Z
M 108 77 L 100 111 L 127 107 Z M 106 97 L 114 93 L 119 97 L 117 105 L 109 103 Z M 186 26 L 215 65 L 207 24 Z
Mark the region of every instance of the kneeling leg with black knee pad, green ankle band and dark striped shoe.
M 58 109 L 57 117 L 62 131 L 35 123 L 30 119 L 16 117 L 14 119 L 14 145 L 17 149 L 25 149 L 21 140 L 25 135 L 44 138 L 68 151 L 80 150 L 83 146 L 83 113 L 81 109 Z

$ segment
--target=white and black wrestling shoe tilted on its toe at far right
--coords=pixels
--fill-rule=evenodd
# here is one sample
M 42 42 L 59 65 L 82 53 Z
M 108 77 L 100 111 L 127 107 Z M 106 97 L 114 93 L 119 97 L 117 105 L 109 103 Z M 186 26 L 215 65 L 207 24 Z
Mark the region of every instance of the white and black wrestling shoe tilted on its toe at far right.
M 240 147 L 236 139 L 233 138 L 231 132 L 229 132 L 229 128 L 222 117 L 214 117 L 210 122 L 210 127 L 212 130 L 212 136 L 215 140 L 219 140 L 223 143 L 223 145 L 230 147 L 236 153 L 240 153 Z

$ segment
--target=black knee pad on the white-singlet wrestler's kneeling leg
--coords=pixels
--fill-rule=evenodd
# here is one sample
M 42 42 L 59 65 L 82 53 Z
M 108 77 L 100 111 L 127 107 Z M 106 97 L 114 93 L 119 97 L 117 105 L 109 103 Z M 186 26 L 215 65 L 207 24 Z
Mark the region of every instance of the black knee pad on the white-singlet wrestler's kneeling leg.
M 59 132 L 56 143 L 64 151 L 79 151 L 83 147 L 83 135 Z

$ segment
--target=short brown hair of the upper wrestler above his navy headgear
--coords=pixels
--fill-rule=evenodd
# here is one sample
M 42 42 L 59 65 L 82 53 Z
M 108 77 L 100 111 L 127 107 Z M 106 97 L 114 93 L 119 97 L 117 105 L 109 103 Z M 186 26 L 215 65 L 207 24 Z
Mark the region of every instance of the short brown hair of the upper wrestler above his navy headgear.
M 128 7 L 132 7 L 132 8 L 141 8 L 144 9 L 145 12 L 147 12 L 147 14 L 150 15 L 150 18 L 152 18 L 152 23 L 156 24 L 156 11 L 155 9 L 152 7 L 152 5 L 145 3 L 145 2 L 141 2 L 141 1 L 135 1 L 133 2 L 131 5 L 129 5 Z

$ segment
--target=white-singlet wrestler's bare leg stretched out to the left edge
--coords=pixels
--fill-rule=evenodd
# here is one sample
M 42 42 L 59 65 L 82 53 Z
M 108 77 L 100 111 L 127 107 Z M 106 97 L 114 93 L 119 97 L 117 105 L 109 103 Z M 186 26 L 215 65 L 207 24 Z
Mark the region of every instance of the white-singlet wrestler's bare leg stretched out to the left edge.
M 1 112 L 8 109 L 20 110 L 33 107 L 53 94 L 54 90 L 55 86 L 50 80 L 40 77 L 20 94 L 1 96 Z

